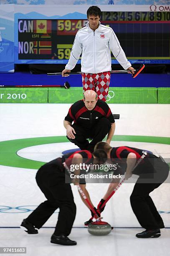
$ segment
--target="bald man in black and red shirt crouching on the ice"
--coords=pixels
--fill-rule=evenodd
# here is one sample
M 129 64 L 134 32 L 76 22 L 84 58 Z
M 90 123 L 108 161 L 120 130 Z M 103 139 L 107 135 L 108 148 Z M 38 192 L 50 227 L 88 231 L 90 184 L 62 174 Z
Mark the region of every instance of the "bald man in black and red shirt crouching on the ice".
M 84 99 L 71 105 L 63 124 L 69 141 L 81 150 L 90 152 L 94 151 L 96 143 L 102 141 L 107 134 L 106 142 L 110 144 L 115 131 L 115 121 L 109 106 L 98 100 L 93 90 L 84 92 Z M 88 138 L 92 138 L 90 143 Z

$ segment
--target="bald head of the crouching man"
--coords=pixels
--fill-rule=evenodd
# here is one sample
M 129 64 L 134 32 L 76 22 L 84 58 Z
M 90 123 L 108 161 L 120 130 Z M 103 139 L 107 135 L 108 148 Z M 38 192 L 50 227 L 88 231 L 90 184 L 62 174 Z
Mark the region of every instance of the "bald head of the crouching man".
M 93 110 L 96 106 L 97 94 L 93 90 L 84 92 L 84 104 L 88 110 Z

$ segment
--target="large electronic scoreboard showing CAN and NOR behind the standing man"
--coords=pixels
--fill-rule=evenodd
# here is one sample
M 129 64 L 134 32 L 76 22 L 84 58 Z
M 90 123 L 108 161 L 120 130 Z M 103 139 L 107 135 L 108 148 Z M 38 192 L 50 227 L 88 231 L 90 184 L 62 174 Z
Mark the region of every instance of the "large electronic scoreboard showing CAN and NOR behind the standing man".
M 18 20 L 15 63 L 66 64 L 87 21 Z M 102 12 L 101 23 L 114 30 L 132 63 L 170 63 L 170 12 Z M 112 63 L 117 63 L 113 55 Z

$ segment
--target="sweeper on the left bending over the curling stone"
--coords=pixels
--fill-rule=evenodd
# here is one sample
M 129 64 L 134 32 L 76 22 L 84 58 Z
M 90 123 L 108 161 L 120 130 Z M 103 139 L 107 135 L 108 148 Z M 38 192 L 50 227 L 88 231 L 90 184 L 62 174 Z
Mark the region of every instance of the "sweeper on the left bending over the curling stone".
M 71 165 L 79 165 L 85 160 L 86 164 L 99 164 L 100 159 L 106 159 L 107 155 L 103 150 L 97 150 L 94 154 L 89 151 L 82 150 L 74 153 L 65 154 L 49 163 L 44 164 L 36 174 L 36 182 L 46 197 L 46 201 L 42 202 L 26 219 L 21 223 L 20 228 L 24 229 L 28 234 L 37 234 L 46 221 L 51 217 L 57 208 L 60 208 L 58 221 L 51 243 L 61 245 L 76 245 L 76 241 L 68 238 L 76 216 L 76 205 L 71 190 L 70 183 L 79 183 L 77 175 L 80 169 L 75 169 L 72 174 L 76 176 L 73 181 L 67 169 Z M 96 209 L 94 212 L 97 213 Z

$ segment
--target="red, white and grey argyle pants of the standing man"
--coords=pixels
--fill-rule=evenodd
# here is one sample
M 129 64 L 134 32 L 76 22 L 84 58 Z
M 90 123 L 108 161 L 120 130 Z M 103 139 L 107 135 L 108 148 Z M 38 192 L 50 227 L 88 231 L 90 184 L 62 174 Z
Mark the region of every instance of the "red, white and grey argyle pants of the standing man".
M 82 73 L 83 90 L 94 90 L 100 100 L 106 101 L 109 92 L 110 72 Z

